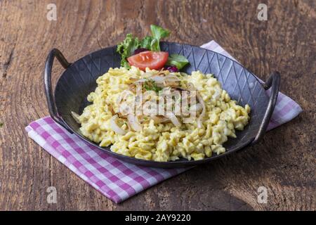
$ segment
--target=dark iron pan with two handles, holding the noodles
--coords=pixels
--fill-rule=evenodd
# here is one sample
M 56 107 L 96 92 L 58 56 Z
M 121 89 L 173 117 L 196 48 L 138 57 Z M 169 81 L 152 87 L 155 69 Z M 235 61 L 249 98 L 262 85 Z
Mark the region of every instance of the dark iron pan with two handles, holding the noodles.
M 228 91 L 232 99 L 240 105 L 250 105 L 251 120 L 249 124 L 244 131 L 237 131 L 237 139 L 230 138 L 224 143 L 225 153 L 214 154 L 211 158 L 197 161 L 180 159 L 175 162 L 154 162 L 113 153 L 110 147 L 101 148 L 98 144 L 86 139 L 79 131 L 79 124 L 74 121 L 70 112 L 81 114 L 86 105 L 89 104 L 86 97 L 96 89 L 96 79 L 107 72 L 109 68 L 119 67 L 121 58 L 116 53 L 116 46 L 90 53 L 75 63 L 68 63 L 58 49 L 51 50 L 44 71 L 45 94 L 51 117 L 67 131 L 76 134 L 96 148 L 104 150 L 105 153 L 125 162 L 148 167 L 171 168 L 199 165 L 221 158 L 247 145 L 252 145 L 263 137 L 277 102 L 280 83 L 279 72 L 272 72 L 268 80 L 262 83 L 242 65 L 219 53 L 197 46 L 171 42 L 162 42 L 161 49 L 168 51 L 169 54 L 180 53 L 190 61 L 190 65 L 183 72 L 190 74 L 192 71 L 200 70 L 203 73 L 212 73 L 223 85 L 223 89 Z M 53 94 L 51 70 L 54 58 L 57 58 L 66 70 L 58 79 Z M 270 87 L 269 98 L 265 91 Z

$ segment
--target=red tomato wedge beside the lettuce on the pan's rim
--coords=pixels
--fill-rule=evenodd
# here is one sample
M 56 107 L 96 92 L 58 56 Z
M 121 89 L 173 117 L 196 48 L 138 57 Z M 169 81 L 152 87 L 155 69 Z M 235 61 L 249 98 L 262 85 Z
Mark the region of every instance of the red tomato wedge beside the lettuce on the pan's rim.
M 140 70 L 145 71 L 145 68 L 150 70 L 160 70 L 166 64 L 169 53 L 164 51 L 143 51 L 134 56 L 127 58 L 129 65 L 133 65 Z

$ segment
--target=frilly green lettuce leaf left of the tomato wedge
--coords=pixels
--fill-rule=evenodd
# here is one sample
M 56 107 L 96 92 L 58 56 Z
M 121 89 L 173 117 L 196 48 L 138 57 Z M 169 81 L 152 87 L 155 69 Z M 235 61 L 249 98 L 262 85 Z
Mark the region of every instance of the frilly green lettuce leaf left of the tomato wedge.
M 133 34 L 127 34 L 126 39 L 117 45 L 117 52 L 121 55 L 121 66 L 130 68 L 127 58 L 140 47 L 140 41 Z

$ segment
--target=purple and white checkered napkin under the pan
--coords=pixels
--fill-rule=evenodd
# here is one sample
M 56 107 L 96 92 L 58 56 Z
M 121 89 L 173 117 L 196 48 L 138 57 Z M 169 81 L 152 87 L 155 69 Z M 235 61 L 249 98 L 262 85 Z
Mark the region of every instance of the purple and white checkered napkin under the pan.
M 202 47 L 232 58 L 215 41 Z M 268 129 L 292 120 L 301 112 L 301 107 L 295 101 L 279 93 Z M 39 146 L 115 203 L 186 170 L 140 167 L 121 162 L 82 141 L 75 134 L 68 133 L 51 117 L 31 122 L 25 129 Z

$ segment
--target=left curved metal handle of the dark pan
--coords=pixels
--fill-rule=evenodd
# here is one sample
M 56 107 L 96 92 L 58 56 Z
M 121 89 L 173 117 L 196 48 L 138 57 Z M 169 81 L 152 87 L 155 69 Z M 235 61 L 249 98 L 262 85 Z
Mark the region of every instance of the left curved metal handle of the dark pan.
M 71 63 L 68 63 L 66 58 L 62 56 L 62 53 L 58 49 L 52 49 L 51 52 L 48 54 L 44 70 L 44 87 L 48 110 L 49 114 L 51 115 L 53 120 L 55 120 L 55 122 L 57 122 L 58 124 L 60 124 L 60 126 L 67 129 L 67 131 L 69 131 L 70 134 L 73 134 L 73 132 L 66 126 L 65 122 L 57 113 L 55 98 L 53 96 L 53 88 L 51 85 L 51 70 L 53 68 L 53 62 L 55 58 L 58 59 L 59 63 L 65 69 L 67 69 L 71 65 Z

